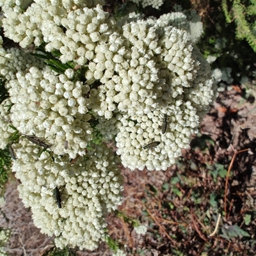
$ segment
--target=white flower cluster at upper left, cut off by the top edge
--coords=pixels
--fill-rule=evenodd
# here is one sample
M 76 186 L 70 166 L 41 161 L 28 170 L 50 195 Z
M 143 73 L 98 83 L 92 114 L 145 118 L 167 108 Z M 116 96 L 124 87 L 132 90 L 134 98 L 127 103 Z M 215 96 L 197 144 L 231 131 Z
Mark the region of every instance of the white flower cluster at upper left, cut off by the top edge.
M 89 4 L 92 1 L 34 2 L 24 13 L 19 6 L 15 8 L 20 12 L 3 6 L 5 35 L 22 48 L 45 42 L 46 51 L 60 50 L 63 63 L 77 61 L 84 65 L 93 58 L 96 44 L 105 42 L 113 31 L 114 20 L 108 19 L 109 13 L 100 6 L 104 1 L 95 1 L 95 8 L 90 8 L 94 5 Z

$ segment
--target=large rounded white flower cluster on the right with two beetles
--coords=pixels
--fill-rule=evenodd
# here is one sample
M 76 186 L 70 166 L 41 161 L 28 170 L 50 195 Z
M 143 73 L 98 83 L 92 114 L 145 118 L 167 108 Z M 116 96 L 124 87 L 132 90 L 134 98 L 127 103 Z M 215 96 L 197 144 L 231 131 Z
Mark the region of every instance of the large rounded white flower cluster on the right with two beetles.
M 211 70 L 190 35 L 167 26 L 166 18 L 131 21 L 122 29 L 123 35 L 97 45 L 100 57 L 88 65 L 86 78 L 102 83 L 91 90 L 91 107 L 102 134 L 120 130 L 115 140 L 125 167 L 166 170 L 216 97 Z M 157 148 L 147 146 L 154 141 Z

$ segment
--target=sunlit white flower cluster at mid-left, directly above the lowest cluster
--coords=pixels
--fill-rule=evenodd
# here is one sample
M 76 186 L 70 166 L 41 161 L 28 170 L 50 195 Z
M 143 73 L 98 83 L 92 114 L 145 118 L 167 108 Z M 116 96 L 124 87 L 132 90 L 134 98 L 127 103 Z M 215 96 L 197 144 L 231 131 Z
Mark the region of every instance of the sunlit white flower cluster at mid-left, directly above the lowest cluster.
M 48 67 L 43 70 L 32 67 L 27 73 L 17 72 L 16 76 L 8 84 L 13 126 L 21 134 L 45 139 L 54 154 L 83 156 L 88 141 L 92 140 L 92 129 L 87 122 L 91 118 L 87 108 L 90 100 L 83 97 L 89 86 L 71 81 L 74 70 L 70 69 L 56 76 Z

